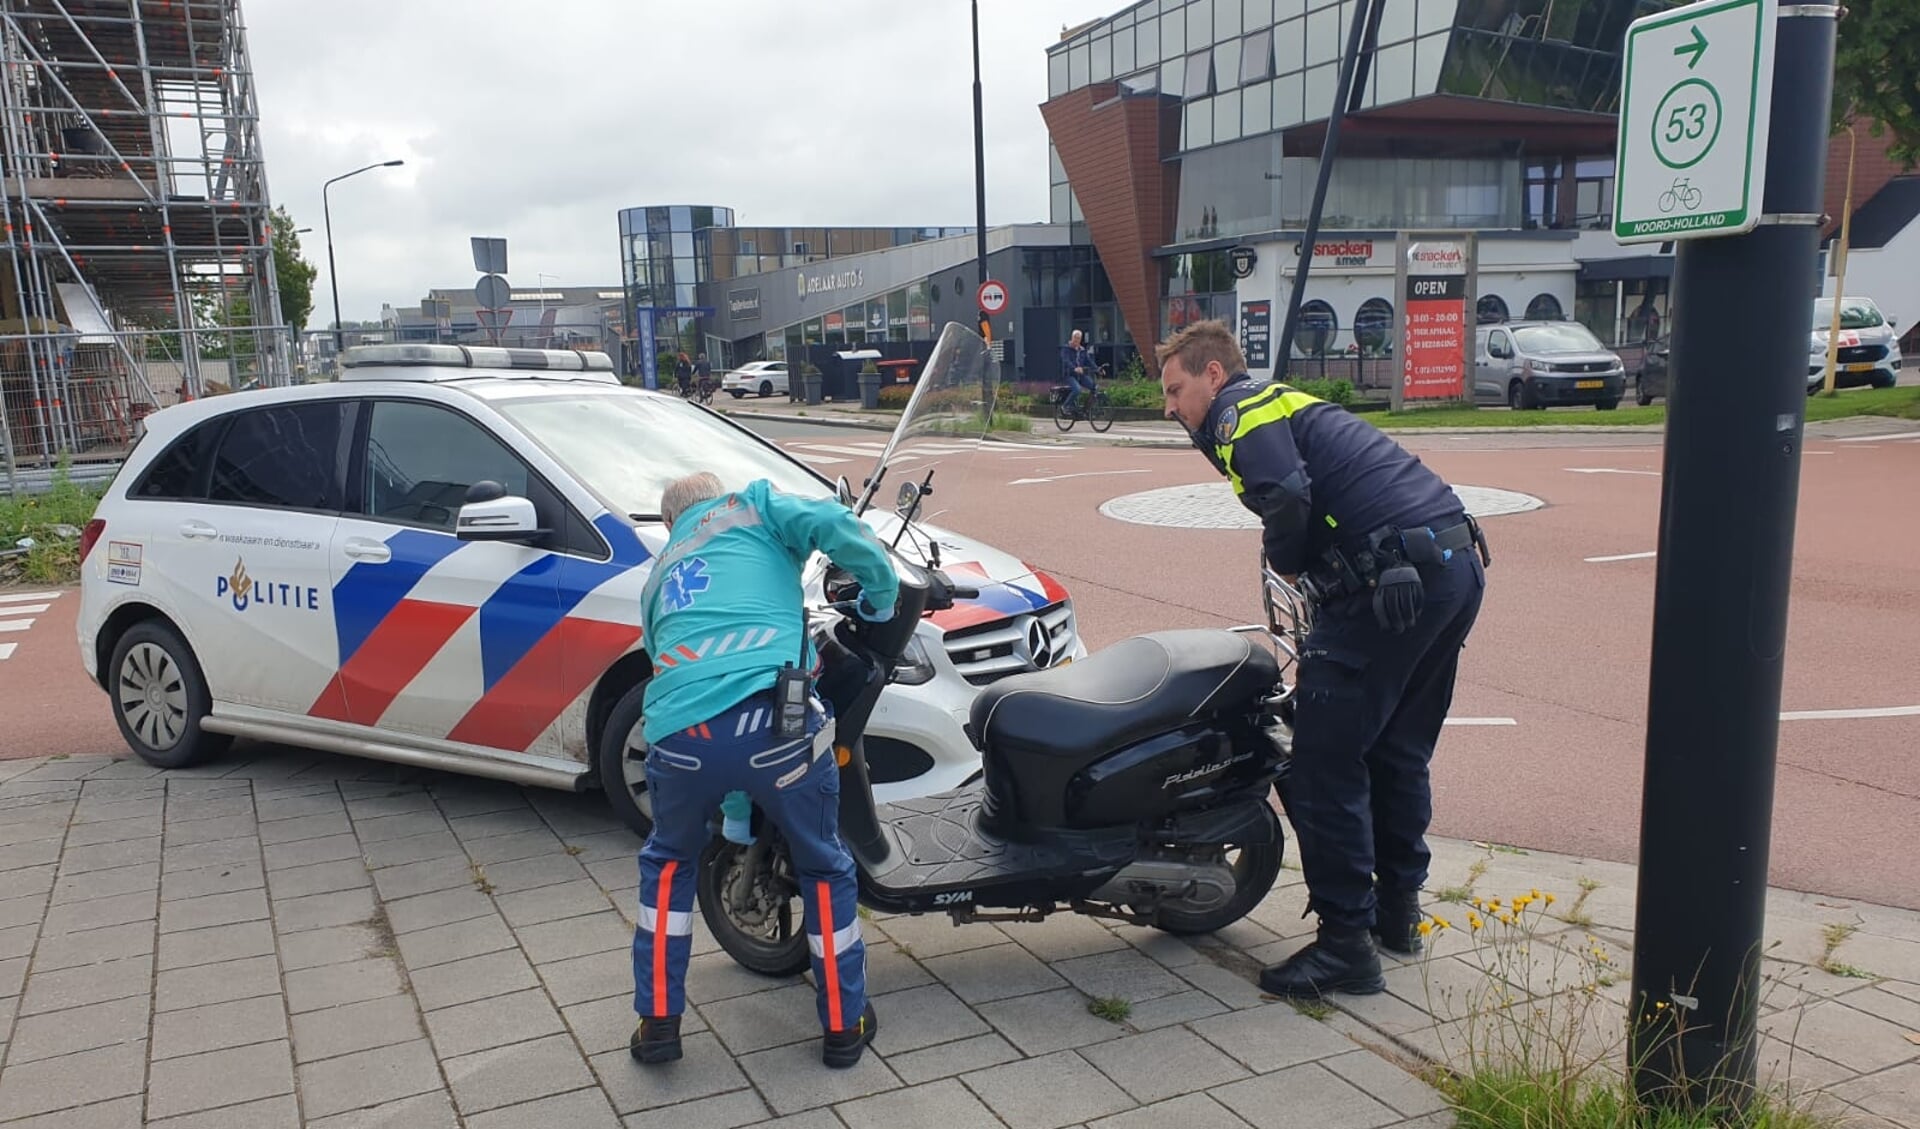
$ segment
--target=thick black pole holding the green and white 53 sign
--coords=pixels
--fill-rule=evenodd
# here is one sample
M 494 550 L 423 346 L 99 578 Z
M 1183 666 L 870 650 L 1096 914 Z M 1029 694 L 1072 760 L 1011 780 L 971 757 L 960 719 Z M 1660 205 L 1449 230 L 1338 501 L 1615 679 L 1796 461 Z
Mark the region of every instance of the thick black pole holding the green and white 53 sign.
M 1836 19 L 1780 10 L 1761 225 L 1674 255 L 1628 1012 L 1657 1102 L 1741 1108 L 1755 1085 Z

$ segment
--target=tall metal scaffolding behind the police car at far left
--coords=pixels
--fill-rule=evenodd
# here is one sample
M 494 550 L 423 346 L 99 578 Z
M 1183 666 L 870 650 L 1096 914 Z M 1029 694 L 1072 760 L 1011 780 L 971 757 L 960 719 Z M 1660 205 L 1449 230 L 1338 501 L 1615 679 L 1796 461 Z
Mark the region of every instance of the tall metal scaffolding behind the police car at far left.
M 0 0 L 0 457 L 290 382 L 240 0 Z

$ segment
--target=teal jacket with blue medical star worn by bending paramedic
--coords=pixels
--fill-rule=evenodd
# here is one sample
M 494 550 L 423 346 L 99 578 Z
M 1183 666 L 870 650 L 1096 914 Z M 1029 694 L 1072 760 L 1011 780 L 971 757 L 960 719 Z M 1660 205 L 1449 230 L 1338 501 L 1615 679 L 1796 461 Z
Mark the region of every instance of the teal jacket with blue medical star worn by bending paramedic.
M 655 743 L 774 687 L 803 661 L 801 570 L 814 553 L 852 572 L 870 609 L 900 595 L 885 545 L 839 499 L 804 499 L 764 478 L 687 507 L 653 563 L 641 628 L 653 655 L 647 720 Z M 804 651 L 812 666 L 812 649 Z

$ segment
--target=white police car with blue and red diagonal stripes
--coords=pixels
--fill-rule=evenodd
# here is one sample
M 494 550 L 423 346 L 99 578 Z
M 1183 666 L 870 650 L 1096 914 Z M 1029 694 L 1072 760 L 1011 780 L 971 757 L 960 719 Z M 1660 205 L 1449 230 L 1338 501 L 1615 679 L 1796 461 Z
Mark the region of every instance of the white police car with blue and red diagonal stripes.
M 718 413 L 622 386 L 605 353 L 353 348 L 336 384 L 148 417 L 83 534 L 81 661 L 156 766 L 280 741 L 601 787 L 645 833 L 639 595 L 660 490 L 693 470 L 851 499 Z M 876 709 L 883 801 L 979 772 L 979 685 L 1085 655 L 1052 578 L 935 538 L 981 595 L 920 624 Z

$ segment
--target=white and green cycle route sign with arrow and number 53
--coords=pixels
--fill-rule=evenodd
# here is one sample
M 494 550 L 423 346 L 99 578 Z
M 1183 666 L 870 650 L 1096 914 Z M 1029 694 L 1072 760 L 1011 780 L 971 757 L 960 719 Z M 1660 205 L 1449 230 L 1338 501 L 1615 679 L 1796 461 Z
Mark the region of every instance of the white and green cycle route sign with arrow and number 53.
M 1697 0 L 1626 29 L 1613 238 L 1753 230 L 1766 188 L 1780 0 Z

